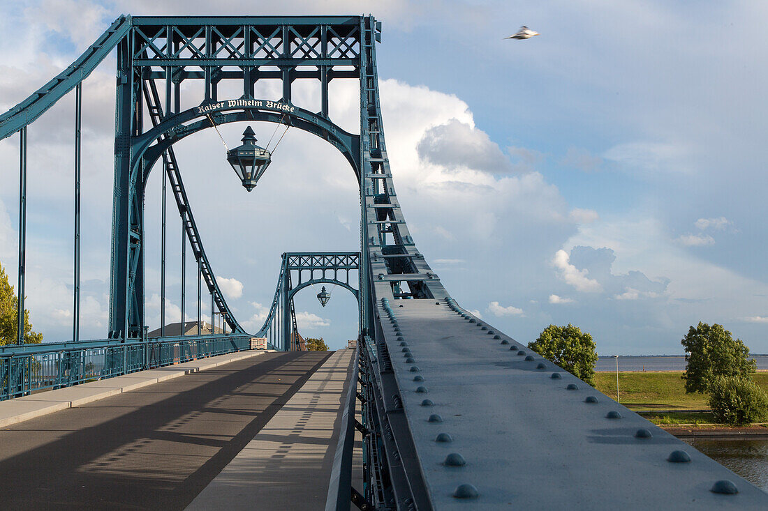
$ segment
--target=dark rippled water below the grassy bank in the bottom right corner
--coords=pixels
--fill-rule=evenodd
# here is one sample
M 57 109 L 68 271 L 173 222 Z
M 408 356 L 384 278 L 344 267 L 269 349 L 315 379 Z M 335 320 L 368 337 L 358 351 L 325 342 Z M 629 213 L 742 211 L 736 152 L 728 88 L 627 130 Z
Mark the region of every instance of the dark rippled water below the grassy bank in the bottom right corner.
M 620 359 L 621 360 L 621 359 Z M 768 492 L 768 440 L 684 440 Z

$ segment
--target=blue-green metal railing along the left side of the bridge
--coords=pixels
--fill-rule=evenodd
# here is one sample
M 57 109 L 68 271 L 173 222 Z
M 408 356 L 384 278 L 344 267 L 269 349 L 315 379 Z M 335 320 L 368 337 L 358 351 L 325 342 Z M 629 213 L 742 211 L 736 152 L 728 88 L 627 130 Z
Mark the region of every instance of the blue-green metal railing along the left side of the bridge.
M 0 400 L 250 349 L 250 335 L 187 335 L 0 348 Z

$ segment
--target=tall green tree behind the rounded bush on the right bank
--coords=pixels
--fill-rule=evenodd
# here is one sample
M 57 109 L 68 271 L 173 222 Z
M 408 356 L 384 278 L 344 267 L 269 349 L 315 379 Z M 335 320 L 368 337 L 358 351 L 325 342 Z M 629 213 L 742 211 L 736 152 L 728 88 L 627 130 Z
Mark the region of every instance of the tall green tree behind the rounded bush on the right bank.
M 709 391 L 716 376 L 752 378 L 756 362 L 749 358 L 750 348 L 740 339 L 733 340 L 723 325 L 699 322 L 690 327 L 680 344 L 685 348 L 687 365 L 683 373 L 687 393 Z

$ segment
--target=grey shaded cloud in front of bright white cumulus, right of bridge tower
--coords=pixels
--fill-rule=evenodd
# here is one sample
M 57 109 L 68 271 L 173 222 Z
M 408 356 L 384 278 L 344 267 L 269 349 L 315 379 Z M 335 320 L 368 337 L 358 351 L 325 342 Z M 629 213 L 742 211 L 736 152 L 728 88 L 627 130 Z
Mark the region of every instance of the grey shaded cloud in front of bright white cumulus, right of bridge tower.
M 512 170 L 509 157 L 485 131 L 458 119 L 426 130 L 416 150 L 422 160 L 449 170 L 474 169 L 492 174 Z

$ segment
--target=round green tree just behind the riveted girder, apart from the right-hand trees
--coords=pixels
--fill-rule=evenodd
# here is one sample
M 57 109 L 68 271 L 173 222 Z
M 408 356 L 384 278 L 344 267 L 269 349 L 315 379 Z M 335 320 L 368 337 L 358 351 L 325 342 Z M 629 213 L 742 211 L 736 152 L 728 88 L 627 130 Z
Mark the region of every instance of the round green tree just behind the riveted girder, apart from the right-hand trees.
M 592 336 L 578 327 L 549 325 L 528 348 L 540 354 L 548 361 L 590 385 L 594 385 L 594 364 L 598 361 L 598 352 Z

